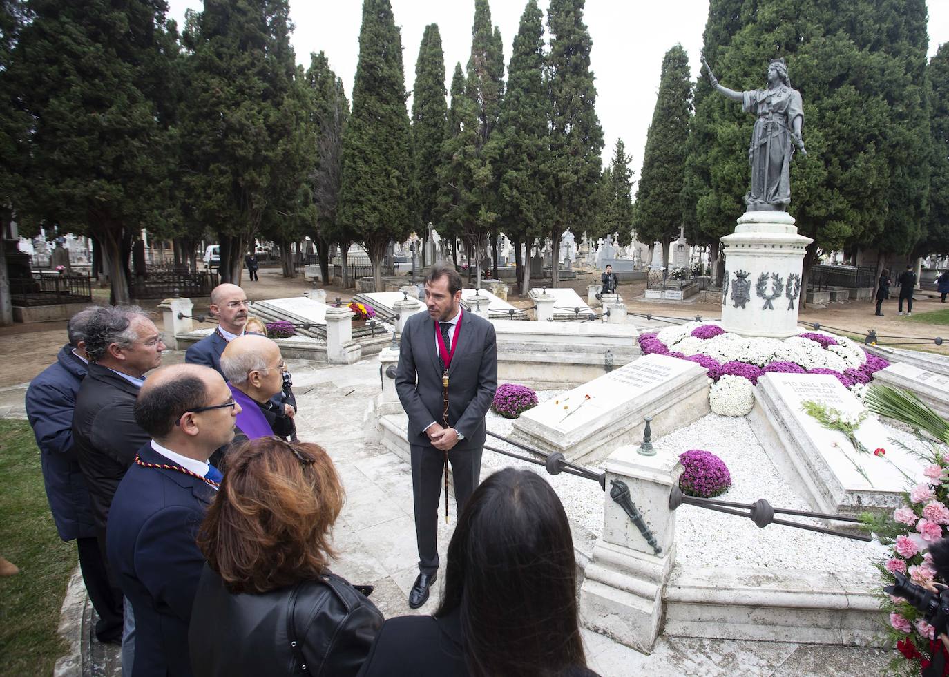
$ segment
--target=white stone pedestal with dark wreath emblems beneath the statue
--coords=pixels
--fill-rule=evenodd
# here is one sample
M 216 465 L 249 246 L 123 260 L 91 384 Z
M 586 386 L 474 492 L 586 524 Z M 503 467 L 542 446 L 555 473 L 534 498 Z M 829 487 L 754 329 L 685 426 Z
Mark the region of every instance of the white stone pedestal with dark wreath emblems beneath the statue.
M 801 266 L 813 240 L 797 235 L 786 212 L 746 212 L 735 233 L 721 238 L 725 293 L 721 326 L 744 336 L 787 338 L 798 333 Z

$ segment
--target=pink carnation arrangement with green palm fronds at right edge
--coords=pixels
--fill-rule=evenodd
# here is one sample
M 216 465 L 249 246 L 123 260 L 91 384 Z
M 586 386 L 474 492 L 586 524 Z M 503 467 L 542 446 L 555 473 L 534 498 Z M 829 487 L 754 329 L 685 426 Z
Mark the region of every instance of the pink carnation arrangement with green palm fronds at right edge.
M 892 585 L 895 573 L 907 576 L 917 585 L 949 583 L 949 580 L 940 578 L 927 552 L 931 543 L 949 536 L 949 459 L 944 446 L 949 444 L 949 422 L 913 393 L 888 386 L 869 388 L 866 405 L 875 414 L 910 426 L 925 448 L 919 452 L 903 447 L 916 454 L 926 467 L 921 478 L 907 478 L 909 490 L 902 496 L 902 506 L 884 516 L 869 513 L 861 516 L 865 528 L 879 536 L 884 545 L 891 546 L 889 555 L 876 564 L 883 585 Z M 921 431 L 939 442 L 924 437 Z M 883 458 L 885 453 L 882 448 L 874 452 Z M 889 665 L 890 671 L 894 674 L 921 674 L 921 669 L 931 663 L 934 653 L 944 653 L 937 637 L 939 630 L 929 625 L 921 612 L 902 598 L 891 597 L 882 588 L 878 595 L 880 607 L 888 614 L 889 620 L 886 644 L 899 651 Z

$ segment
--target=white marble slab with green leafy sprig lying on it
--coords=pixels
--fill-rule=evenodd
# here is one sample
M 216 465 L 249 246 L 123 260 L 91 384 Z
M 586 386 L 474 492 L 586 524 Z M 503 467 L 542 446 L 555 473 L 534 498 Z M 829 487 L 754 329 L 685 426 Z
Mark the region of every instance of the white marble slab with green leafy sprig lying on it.
M 845 414 L 864 410 L 834 376 L 765 374 L 754 397 L 754 434 L 775 467 L 819 512 L 859 515 L 867 508 L 896 508 L 909 481 L 902 472 L 922 478 L 920 461 L 890 441 L 875 418 L 857 429 L 857 440 L 868 450 L 861 453 L 843 433 L 828 430 L 804 411 L 808 400 Z M 877 448 L 885 449 L 884 458 L 873 455 Z

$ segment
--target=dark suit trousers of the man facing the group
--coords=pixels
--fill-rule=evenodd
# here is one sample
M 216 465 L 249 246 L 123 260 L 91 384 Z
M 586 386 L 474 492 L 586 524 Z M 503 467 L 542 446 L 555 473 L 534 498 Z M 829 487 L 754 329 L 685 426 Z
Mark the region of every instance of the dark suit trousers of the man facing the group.
M 412 444 L 412 498 L 415 505 L 416 540 L 419 544 L 419 572 L 435 574 L 438 570 L 438 501 L 444 492 L 445 452 L 434 446 Z M 462 449 L 448 452 L 455 483 L 456 519 L 474 493 L 481 476 L 483 449 Z

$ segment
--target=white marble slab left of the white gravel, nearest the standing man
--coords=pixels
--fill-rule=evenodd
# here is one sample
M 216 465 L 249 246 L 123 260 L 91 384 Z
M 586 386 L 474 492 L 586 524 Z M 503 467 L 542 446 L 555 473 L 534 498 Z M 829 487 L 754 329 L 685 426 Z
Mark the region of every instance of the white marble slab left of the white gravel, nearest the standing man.
M 708 385 L 705 369 L 693 362 L 643 355 L 524 412 L 513 434 L 571 459 L 598 460 L 641 442 L 635 434 L 645 416 L 653 417 L 653 435 L 661 435 L 707 414 Z

